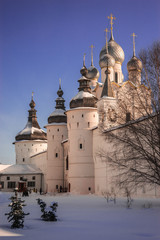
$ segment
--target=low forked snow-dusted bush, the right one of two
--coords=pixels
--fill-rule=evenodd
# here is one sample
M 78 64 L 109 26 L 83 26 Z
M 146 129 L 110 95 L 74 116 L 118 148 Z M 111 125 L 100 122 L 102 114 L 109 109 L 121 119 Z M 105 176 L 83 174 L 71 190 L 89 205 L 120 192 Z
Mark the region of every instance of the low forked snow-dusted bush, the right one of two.
M 57 211 L 57 207 L 58 207 L 58 203 L 57 202 L 53 202 L 48 209 L 46 209 L 46 203 L 38 198 L 37 199 L 37 203 L 39 204 L 40 208 L 41 208 L 41 218 L 44 221 L 57 221 L 57 216 L 56 216 L 56 211 Z

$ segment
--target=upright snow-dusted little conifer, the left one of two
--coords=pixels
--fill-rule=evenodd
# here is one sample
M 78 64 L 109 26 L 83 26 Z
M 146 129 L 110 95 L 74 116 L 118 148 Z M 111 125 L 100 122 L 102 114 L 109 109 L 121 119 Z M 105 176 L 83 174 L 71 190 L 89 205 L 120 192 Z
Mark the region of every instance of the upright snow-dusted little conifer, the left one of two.
M 5 213 L 5 215 L 8 215 L 8 222 L 12 222 L 11 228 L 23 228 L 24 217 L 29 215 L 29 213 L 23 212 L 23 207 L 26 206 L 24 204 L 25 201 L 17 198 L 17 191 L 15 191 L 15 196 L 12 196 L 10 199 L 11 203 L 8 206 L 11 207 L 11 211 Z

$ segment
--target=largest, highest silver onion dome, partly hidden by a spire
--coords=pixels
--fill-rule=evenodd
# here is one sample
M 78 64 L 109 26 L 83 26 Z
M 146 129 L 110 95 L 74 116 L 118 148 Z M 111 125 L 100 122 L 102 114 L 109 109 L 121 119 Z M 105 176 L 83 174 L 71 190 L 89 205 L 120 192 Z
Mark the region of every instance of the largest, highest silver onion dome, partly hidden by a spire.
M 124 51 L 121 46 L 112 38 L 108 42 L 108 53 L 115 59 L 116 62 L 123 63 Z M 106 45 L 102 48 L 99 58 L 101 59 L 106 54 Z

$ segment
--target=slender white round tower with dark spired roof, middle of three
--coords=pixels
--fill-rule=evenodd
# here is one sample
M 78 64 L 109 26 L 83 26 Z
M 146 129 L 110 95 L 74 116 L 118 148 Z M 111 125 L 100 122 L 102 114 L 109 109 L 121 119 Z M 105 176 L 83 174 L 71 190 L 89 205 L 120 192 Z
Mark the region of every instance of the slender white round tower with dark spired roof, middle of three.
M 56 107 L 48 117 L 47 128 L 47 192 L 59 191 L 64 187 L 64 161 L 62 141 L 67 139 L 67 116 L 61 81 L 57 91 Z

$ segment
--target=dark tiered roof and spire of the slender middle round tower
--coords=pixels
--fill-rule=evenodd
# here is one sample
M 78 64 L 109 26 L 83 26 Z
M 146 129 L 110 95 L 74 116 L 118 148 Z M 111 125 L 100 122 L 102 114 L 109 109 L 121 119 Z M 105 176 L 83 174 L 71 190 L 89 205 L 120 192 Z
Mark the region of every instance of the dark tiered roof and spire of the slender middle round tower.
M 59 89 L 57 91 L 56 107 L 53 113 L 48 117 L 48 123 L 66 123 L 67 116 L 65 114 L 63 91 L 61 89 L 61 82 L 59 83 Z

